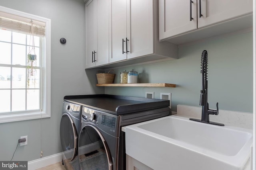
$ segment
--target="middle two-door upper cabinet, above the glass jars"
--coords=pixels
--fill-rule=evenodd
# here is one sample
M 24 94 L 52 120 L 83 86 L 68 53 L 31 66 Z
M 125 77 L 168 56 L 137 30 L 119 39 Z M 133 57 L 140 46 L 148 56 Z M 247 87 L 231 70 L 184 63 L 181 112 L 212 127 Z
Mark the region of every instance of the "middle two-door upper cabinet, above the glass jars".
M 135 64 L 178 57 L 176 45 L 158 41 L 158 0 L 112 0 L 111 32 L 110 63 L 128 60 L 126 63 Z

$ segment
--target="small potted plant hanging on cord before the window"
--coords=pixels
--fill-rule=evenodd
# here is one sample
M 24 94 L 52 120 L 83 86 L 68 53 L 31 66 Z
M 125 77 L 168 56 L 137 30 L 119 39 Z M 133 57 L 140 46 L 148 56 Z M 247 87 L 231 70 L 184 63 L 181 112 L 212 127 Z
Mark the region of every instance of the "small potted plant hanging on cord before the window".
M 30 80 L 33 81 L 34 86 L 36 86 L 36 52 L 35 52 L 35 43 L 34 43 L 34 27 L 33 21 L 30 21 L 31 29 L 30 29 L 30 41 L 29 41 L 29 52 L 27 55 L 27 86 L 29 88 Z

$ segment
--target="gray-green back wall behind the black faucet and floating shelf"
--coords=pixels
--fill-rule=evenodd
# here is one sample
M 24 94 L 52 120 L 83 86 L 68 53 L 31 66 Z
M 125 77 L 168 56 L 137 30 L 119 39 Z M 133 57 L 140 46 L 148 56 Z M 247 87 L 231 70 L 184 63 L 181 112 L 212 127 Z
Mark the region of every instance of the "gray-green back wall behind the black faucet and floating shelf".
M 210 108 L 252 113 L 252 32 L 218 39 L 208 39 L 194 45 L 179 47 L 179 59 L 126 67 L 114 70 L 114 82 L 119 82 L 123 70 L 142 73 L 140 82 L 172 83 L 176 88 L 106 87 L 106 94 L 145 97 L 145 92 L 172 93 L 172 111 L 178 104 L 199 106 L 202 74 L 202 51 L 208 51 L 208 103 Z

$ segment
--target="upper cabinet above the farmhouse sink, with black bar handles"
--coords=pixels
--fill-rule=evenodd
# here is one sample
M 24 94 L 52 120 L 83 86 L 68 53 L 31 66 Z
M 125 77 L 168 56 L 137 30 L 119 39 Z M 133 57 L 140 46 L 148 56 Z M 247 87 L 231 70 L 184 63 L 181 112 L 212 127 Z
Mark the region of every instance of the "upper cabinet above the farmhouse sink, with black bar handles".
M 160 40 L 182 44 L 248 27 L 252 0 L 159 0 Z

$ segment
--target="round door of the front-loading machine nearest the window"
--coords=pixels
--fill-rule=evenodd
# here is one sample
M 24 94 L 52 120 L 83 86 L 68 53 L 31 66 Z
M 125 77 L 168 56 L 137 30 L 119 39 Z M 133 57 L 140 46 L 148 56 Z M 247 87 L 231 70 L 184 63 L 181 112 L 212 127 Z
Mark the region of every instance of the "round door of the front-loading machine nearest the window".
M 78 135 L 75 123 L 69 113 L 64 113 L 60 121 L 60 141 L 67 160 L 73 160 L 78 150 Z

